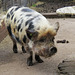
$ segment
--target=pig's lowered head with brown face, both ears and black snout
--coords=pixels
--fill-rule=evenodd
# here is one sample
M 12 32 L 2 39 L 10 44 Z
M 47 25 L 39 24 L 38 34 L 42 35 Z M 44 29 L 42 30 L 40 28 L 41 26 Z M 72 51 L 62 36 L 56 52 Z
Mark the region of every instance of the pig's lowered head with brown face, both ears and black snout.
M 57 52 L 54 44 L 54 38 L 59 29 L 59 23 L 40 30 L 27 30 L 27 36 L 30 39 L 29 46 L 36 54 L 43 57 L 50 57 Z

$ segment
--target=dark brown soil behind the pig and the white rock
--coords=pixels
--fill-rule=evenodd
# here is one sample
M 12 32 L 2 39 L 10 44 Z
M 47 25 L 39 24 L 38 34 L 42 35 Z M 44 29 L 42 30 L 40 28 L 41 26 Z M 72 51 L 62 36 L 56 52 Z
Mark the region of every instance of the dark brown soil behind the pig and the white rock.
M 66 7 L 66 6 L 74 6 L 75 1 L 73 0 L 40 0 L 40 3 L 36 5 L 35 10 L 40 13 L 53 13 L 56 12 L 58 8 Z

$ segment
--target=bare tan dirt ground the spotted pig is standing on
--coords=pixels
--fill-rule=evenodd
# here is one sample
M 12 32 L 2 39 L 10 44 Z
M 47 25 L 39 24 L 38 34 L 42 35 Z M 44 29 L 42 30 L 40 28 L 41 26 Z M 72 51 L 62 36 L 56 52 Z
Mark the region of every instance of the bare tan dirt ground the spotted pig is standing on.
M 0 75 L 60 75 L 58 64 L 68 55 L 75 53 L 75 19 L 48 19 L 51 23 L 59 22 L 60 28 L 55 37 L 58 52 L 51 58 L 42 58 L 44 63 L 27 66 L 27 53 L 22 53 L 18 45 L 18 54 L 12 51 L 12 42 L 7 36 L 0 43 Z M 57 40 L 67 40 L 69 43 L 57 43 Z

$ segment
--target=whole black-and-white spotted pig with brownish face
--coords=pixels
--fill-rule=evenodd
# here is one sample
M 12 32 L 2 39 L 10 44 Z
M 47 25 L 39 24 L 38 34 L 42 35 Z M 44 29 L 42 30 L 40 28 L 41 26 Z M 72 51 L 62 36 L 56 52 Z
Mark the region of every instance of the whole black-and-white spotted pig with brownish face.
M 40 56 L 50 57 L 57 52 L 54 45 L 54 36 L 59 29 L 59 23 L 50 24 L 40 13 L 28 7 L 11 7 L 2 24 L 7 26 L 10 38 L 13 41 L 13 51 L 17 53 L 17 42 L 22 45 L 22 51 L 29 53 L 27 65 L 33 65 L 35 60 L 42 63 Z M 39 56 L 40 55 L 40 56 Z

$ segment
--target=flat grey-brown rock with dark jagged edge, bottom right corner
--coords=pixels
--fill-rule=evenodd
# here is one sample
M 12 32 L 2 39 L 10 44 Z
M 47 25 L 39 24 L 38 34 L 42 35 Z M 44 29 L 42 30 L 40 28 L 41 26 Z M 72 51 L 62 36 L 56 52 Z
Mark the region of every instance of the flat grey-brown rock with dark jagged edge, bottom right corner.
M 58 69 L 62 75 L 75 75 L 75 54 L 68 56 L 59 65 Z

